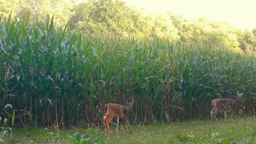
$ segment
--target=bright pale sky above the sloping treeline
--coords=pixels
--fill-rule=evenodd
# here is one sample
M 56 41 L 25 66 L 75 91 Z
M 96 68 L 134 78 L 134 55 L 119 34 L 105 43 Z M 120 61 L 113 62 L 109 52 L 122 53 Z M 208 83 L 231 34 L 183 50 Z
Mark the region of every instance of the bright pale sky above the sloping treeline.
M 255 0 L 123 0 L 128 5 L 150 13 L 182 15 L 185 18 L 206 17 L 227 21 L 237 28 L 256 28 Z

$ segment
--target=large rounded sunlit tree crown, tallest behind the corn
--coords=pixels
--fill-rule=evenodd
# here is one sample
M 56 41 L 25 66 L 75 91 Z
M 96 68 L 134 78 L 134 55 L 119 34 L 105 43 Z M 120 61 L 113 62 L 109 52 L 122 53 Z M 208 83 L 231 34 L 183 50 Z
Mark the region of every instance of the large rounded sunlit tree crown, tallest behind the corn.
M 88 1 L 74 8 L 72 18 L 86 33 L 125 34 L 129 31 L 131 11 L 122 1 Z

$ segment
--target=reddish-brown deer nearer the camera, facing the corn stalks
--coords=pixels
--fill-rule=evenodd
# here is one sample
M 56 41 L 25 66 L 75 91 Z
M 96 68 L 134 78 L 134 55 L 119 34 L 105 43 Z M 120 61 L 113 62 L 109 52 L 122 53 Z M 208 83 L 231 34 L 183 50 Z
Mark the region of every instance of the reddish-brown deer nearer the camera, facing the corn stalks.
M 119 105 L 119 104 L 106 104 L 104 107 L 105 113 L 106 115 L 103 116 L 103 122 L 105 123 L 105 131 L 108 130 L 108 136 L 110 136 L 110 128 L 109 128 L 109 122 L 112 121 L 112 119 L 116 116 L 117 117 L 117 129 L 116 129 L 116 133 L 117 135 L 119 134 L 118 131 L 118 126 L 119 126 L 119 117 L 124 118 L 125 119 L 125 124 L 127 129 L 129 129 L 130 134 L 131 134 L 131 129 L 129 126 L 129 122 L 128 122 L 128 113 L 129 111 L 132 109 L 132 106 L 135 103 L 135 100 L 132 100 L 131 103 L 127 102 L 127 105 Z

